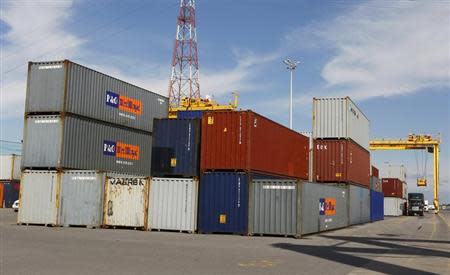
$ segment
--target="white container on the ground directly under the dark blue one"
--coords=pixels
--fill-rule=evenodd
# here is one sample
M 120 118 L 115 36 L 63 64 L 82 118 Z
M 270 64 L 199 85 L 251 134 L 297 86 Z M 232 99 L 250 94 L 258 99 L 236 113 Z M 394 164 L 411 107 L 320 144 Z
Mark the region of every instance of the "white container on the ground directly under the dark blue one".
M 149 229 L 195 232 L 198 188 L 198 180 L 193 178 L 152 178 Z

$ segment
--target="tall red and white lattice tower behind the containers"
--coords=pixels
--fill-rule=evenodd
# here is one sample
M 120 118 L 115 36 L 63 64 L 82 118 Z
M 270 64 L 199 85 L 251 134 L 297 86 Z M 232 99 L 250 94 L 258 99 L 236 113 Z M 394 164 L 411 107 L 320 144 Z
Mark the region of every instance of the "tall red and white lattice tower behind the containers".
M 179 107 L 184 97 L 200 98 L 195 0 L 180 0 L 169 83 L 169 106 Z

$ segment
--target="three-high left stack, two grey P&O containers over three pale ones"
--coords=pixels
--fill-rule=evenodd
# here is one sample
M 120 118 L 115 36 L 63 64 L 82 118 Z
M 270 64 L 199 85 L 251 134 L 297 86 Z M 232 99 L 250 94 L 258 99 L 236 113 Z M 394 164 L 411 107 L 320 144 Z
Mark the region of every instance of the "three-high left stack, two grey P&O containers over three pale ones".
M 167 98 L 68 60 L 30 62 L 19 224 L 147 228 Z

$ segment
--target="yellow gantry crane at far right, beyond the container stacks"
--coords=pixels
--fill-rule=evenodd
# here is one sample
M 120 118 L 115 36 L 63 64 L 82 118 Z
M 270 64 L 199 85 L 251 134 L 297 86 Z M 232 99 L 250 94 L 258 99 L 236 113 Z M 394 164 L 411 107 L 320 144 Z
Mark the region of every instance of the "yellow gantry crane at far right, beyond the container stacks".
M 427 150 L 433 153 L 434 207 L 439 212 L 439 145 L 440 138 L 431 135 L 408 135 L 408 139 L 371 140 L 370 150 Z M 426 186 L 426 179 L 418 179 L 418 186 Z

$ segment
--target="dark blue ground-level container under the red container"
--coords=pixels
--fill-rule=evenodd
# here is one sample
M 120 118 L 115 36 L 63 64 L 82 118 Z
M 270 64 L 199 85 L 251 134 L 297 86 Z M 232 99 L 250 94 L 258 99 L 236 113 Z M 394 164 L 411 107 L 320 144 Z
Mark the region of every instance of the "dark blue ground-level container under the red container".
M 198 230 L 247 234 L 247 173 L 210 172 L 200 179 Z

